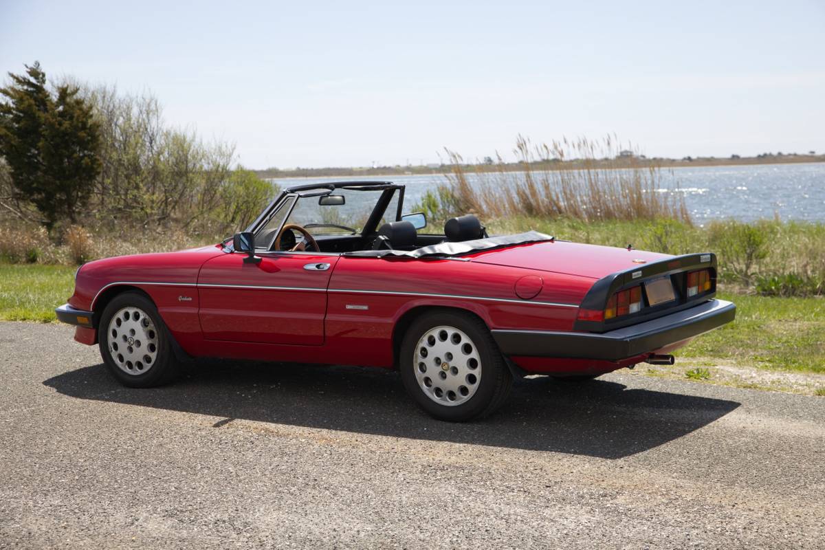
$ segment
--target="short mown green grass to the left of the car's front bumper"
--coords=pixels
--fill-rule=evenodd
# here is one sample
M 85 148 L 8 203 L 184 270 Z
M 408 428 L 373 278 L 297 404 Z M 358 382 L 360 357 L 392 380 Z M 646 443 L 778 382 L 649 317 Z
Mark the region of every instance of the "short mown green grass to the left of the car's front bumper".
M 70 266 L 0 264 L 0 319 L 52 322 L 74 289 Z

